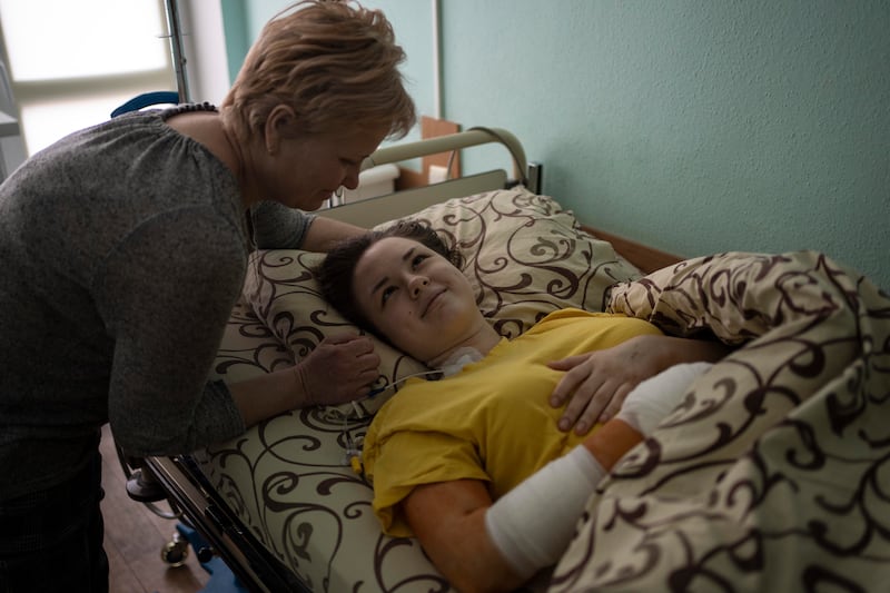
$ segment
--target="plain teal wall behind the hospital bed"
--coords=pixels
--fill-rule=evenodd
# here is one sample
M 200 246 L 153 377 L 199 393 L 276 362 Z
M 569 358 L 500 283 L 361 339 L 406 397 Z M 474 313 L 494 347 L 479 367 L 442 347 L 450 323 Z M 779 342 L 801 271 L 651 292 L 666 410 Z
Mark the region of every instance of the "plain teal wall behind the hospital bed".
M 260 24 L 287 3 L 245 2 Z M 432 113 L 432 3 L 367 4 Z M 888 31 L 883 0 L 442 0 L 442 116 L 516 134 L 592 226 L 684 257 L 819 249 L 890 289 Z

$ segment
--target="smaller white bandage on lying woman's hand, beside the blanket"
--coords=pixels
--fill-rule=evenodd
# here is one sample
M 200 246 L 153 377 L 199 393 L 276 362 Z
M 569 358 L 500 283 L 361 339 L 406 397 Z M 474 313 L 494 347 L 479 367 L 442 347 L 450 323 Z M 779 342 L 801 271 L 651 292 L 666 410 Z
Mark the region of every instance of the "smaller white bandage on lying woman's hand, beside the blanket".
M 711 368 L 711 363 L 674 365 L 647 378 L 634 388 L 617 416 L 643 436 L 651 435 L 664 417 L 674 411 L 695 378 Z

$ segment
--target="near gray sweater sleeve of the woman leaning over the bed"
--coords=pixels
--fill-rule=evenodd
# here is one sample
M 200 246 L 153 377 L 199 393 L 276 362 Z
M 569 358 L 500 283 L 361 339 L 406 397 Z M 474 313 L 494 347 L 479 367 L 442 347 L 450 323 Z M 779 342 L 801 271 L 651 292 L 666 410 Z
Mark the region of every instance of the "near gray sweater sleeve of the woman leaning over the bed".
M 115 339 L 109 419 L 129 455 L 192 451 L 245 429 L 228 389 L 207 376 L 245 268 L 239 233 L 219 227 L 210 208 L 165 213 L 97 275 L 97 304 Z

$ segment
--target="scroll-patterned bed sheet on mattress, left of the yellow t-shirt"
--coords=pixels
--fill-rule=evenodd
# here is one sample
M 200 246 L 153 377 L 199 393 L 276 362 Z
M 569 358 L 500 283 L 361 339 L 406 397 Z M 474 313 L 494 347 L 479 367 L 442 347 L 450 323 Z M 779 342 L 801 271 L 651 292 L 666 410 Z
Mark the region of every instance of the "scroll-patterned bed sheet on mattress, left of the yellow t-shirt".
M 216 375 L 234 383 L 290 365 L 290 349 L 238 303 Z M 345 435 L 360 438 L 368 421 L 294 411 L 192 457 L 250 535 L 310 591 L 451 591 L 417 542 L 380 533 L 370 486 L 345 463 Z

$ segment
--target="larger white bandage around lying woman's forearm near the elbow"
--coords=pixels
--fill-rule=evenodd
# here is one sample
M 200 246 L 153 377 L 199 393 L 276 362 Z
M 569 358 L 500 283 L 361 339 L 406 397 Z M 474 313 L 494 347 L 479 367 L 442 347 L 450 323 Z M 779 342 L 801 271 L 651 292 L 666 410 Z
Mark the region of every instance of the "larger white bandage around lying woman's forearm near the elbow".
M 605 470 L 578 445 L 502 496 L 485 513 L 485 528 L 523 580 L 555 564 Z

